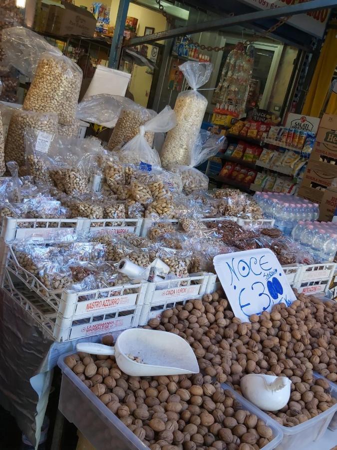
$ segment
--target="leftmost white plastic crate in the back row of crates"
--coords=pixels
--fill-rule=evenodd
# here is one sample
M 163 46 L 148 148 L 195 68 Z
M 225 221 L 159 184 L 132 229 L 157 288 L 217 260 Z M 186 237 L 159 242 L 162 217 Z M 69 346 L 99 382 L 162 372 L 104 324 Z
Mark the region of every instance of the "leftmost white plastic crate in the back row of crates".
M 15 242 L 32 236 L 47 240 L 51 235 L 57 236 L 57 240 L 62 240 L 63 236 L 83 232 L 84 220 L 3 217 L 0 236 L 6 242 Z

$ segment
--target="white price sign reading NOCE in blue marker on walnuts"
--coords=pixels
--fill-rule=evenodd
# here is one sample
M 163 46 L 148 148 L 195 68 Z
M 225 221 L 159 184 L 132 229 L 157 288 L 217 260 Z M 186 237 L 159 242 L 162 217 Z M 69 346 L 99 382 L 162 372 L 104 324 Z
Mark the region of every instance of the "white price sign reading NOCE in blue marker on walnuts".
M 275 254 L 268 248 L 218 254 L 214 267 L 236 317 L 270 312 L 274 304 L 289 306 L 296 296 Z

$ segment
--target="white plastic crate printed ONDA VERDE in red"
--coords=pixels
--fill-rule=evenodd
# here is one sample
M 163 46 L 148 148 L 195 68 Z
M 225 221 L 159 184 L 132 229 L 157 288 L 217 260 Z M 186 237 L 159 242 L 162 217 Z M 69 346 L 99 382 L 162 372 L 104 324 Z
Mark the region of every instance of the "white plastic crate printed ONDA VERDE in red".
M 200 298 L 209 285 L 209 273 L 191 273 L 190 276 L 148 283 L 144 303 L 153 304 L 166 300 Z

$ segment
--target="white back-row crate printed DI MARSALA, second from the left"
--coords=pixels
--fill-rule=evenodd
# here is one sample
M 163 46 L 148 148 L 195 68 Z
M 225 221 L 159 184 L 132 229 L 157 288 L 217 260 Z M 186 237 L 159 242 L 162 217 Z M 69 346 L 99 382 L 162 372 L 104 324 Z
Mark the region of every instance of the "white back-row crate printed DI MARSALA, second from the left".
M 83 220 L 83 230 L 90 233 L 90 235 L 104 230 L 104 232 L 109 234 L 129 232 L 139 236 L 143 224 L 142 218 L 106 218 Z

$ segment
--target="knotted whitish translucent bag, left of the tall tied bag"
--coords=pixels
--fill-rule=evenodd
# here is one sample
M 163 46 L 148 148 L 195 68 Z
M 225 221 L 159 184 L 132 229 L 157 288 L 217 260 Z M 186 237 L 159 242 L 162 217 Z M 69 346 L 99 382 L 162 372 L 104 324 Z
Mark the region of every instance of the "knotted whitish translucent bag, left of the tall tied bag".
M 166 132 L 176 126 L 177 119 L 174 110 L 170 106 L 159 112 L 151 120 L 148 120 L 144 125 L 139 126 L 138 134 L 127 142 L 118 152 L 121 162 L 133 164 L 140 164 L 145 162 L 147 164 L 160 166 L 160 157 L 155 148 L 151 148 L 146 139 L 146 132 Z

